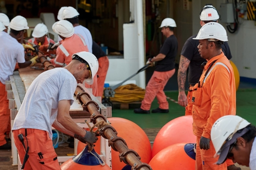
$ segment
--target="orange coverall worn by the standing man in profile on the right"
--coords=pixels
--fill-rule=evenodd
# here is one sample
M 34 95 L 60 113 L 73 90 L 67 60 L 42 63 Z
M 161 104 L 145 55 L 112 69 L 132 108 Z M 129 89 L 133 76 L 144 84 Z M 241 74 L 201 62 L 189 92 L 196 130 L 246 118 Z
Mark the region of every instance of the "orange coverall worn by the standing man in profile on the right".
M 216 60 L 205 76 L 209 65 Z M 200 85 L 193 88 L 192 117 L 193 133 L 197 136 L 196 170 L 226 170 L 227 164 L 216 165 L 218 158 L 213 158 L 215 149 L 210 142 L 209 150 L 200 150 L 201 136 L 210 139 L 210 132 L 214 122 L 225 115 L 236 114 L 236 84 L 233 68 L 227 57 L 220 55 L 210 59 L 204 66 L 200 77 Z

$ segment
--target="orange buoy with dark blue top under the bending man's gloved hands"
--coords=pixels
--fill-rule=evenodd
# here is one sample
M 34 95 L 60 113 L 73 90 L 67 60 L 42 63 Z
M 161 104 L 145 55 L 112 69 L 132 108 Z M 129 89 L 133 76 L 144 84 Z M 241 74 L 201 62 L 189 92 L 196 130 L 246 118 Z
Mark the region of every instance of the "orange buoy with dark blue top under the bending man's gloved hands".
M 92 150 L 88 152 L 88 146 L 77 156 L 68 159 L 61 164 L 61 170 L 111 170 L 99 157 L 99 155 Z

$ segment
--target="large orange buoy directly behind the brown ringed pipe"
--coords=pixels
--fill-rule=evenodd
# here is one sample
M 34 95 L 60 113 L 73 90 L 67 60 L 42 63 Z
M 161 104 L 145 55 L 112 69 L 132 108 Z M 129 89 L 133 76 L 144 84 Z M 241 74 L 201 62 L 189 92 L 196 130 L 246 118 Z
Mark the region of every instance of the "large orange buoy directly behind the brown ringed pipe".
M 130 120 L 110 117 L 108 121 L 111 122 L 117 131 L 117 136 L 125 139 L 125 142 L 129 149 L 135 150 L 141 157 L 142 162 L 147 163 L 151 160 L 151 144 L 148 136 L 140 126 L 131 122 Z M 122 170 L 126 164 L 119 159 L 119 152 L 114 151 L 111 148 L 112 156 L 112 170 Z

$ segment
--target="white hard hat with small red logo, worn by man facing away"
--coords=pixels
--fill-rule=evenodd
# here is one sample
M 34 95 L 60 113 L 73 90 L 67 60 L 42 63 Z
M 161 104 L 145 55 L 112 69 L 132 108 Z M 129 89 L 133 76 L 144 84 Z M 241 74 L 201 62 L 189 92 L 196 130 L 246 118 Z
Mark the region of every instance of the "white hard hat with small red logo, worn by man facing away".
M 220 18 L 218 11 L 212 5 L 204 6 L 199 17 L 202 21 L 212 21 Z

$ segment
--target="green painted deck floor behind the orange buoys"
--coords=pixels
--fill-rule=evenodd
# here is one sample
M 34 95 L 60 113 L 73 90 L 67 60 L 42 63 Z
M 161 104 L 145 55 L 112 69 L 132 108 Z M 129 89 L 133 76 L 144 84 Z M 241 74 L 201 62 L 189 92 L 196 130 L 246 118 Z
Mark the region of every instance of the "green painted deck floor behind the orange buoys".
M 166 96 L 177 101 L 178 91 L 165 91 Z M 167 122 L 179 116 L 184 116 L 185 108 L 168 99 L 169 113 L 136 114 L 134 108 L 129 110 L 113 109 L 113 117 L 121 117 L 139 125 L 141 128 L 163 127 Z M 151 109 L 158 107 L 157 99 Z M 236 92 L 236 114 L 256 125 L 256 89 L 239 89 Z

